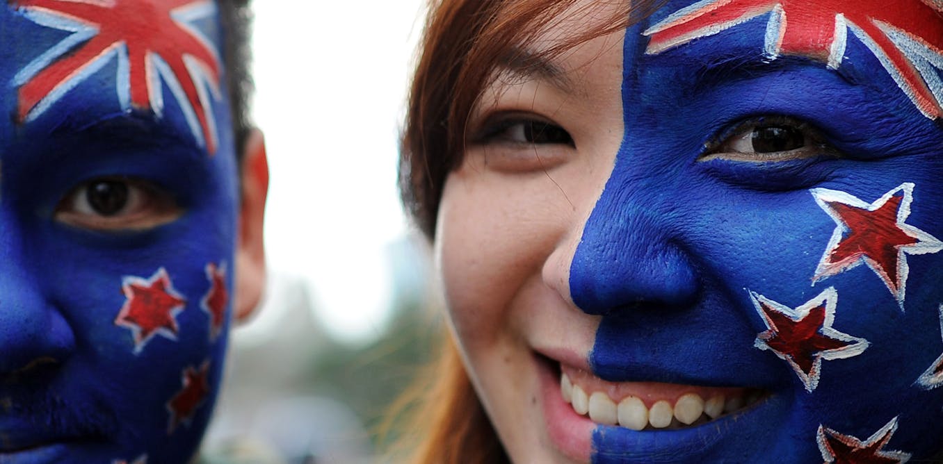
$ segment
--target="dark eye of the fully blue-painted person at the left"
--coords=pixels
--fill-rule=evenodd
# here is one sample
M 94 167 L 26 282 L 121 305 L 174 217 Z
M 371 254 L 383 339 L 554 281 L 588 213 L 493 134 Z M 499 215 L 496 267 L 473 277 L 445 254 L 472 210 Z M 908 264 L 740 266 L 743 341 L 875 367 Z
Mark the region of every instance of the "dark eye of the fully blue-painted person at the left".
M 110 176 L 75 186 L 59 201 L 55 219 L 92 231 L 142 231 L 171 222 L 181 213 L 171 195 L 157 185 Z

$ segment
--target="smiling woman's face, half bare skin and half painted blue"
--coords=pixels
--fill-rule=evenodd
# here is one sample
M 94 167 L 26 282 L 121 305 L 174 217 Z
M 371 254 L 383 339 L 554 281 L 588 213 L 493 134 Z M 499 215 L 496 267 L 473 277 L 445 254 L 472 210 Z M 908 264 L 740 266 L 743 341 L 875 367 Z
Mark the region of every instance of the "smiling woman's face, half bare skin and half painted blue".
M 437 250 L 512 458 L 943 451 L 941 50 L 935 2 L 704 0 L 506 63 Z

